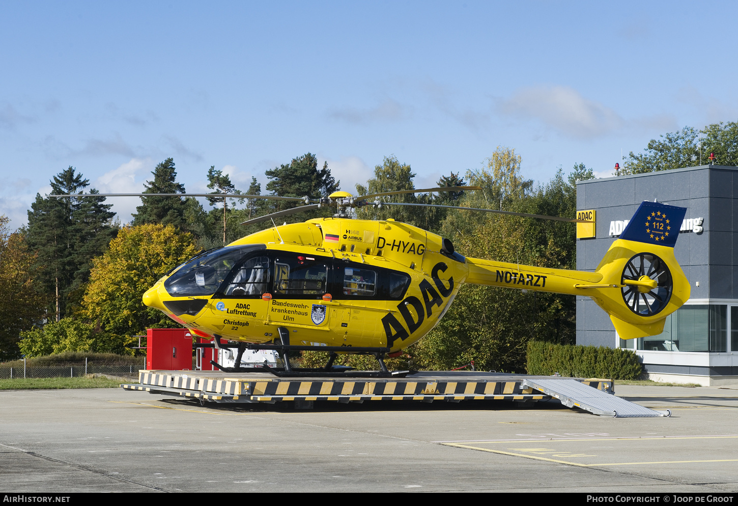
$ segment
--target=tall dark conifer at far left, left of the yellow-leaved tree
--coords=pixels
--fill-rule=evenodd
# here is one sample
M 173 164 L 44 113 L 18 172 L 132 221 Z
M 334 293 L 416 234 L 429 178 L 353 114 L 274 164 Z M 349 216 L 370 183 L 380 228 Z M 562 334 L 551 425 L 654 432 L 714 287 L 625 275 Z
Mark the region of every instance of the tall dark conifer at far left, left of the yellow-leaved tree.
M 82 194 L 89 180 L 69 167 L 50 181 L 51 195 Z M 92 188 L 90 194 L 97 194 Z M 115 213 L 105 197 L 49 198 L 36 195 L 28 211 L 27 240 L 38 252 L 40 290 L 53 293 L 55 321 L 73 310 L 69 296 L 80 292 L 89 278 L 90 262 L 115 236 L 111 220 Z M 77 297 L 79 298 L 79 297 Z

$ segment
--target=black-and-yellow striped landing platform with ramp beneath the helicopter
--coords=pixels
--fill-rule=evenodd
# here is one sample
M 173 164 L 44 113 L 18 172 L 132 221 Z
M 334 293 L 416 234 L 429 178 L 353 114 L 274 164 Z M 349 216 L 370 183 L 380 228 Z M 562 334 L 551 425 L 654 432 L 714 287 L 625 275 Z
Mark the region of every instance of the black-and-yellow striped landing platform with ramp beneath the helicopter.
M 545 389 L 537 386 L 545 383 Z M 551 376 L 514 375 L 499 372 L 417 372 L 407 377 L 275 377 L 261 372 L 140 371 L 139 385 L 123 389 L 190 397 L 201 403 L 276 403 L 311 401 L 362 403 L 370 400 L 506 400 L 534 403 L 556 397 L 565 406 L 610 416 L 664 416 L 613 395 L 613 381 Z M 559 386 L 560 388 L 556 388 Z M 586 388 L 585 388 L 586 387 Z M 584 389 L 584 390 L 582 390 Z M 562 392 L 562 393 L 559 393 Z M 578 402 L 570 397 L 586 397 Z M 613 403 L 618 407 L 612 408 Z M 632 410 L 627 408 L 632 406 Z M 640 411 L 636 408 L 640 408 Z M 650 414 L 646 411 L 650 411 Z M 630 414 L 638 411 L 639 414 Z

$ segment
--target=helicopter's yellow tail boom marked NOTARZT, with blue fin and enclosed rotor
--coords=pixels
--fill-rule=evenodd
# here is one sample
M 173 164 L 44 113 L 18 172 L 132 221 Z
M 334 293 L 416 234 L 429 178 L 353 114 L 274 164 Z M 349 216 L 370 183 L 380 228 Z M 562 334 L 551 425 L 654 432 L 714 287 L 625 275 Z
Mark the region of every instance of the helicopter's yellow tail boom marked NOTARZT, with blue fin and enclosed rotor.
M 584 295 L 610 315 L 621 339 L 658 335 L 666 317 L 690 295 L 689 280 L 674 256 L 676 225 L 685 212 L 673 205 L 643 202 L 594 273 L 467 258 L 466 282 Z

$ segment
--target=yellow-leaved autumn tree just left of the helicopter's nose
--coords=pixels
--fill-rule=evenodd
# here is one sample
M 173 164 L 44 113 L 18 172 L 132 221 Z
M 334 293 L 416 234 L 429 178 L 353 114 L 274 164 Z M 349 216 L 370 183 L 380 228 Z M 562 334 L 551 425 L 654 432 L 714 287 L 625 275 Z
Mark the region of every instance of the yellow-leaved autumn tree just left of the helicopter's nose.
M 115 335 L 132 336 L 147 327 L 176 327 L 162 312 L 145 307 L 142 296 L 197 252 L 193 236 L 171 225 L 122 228 L 106 253 L 94 259 L 83 298 L 86 317 Z

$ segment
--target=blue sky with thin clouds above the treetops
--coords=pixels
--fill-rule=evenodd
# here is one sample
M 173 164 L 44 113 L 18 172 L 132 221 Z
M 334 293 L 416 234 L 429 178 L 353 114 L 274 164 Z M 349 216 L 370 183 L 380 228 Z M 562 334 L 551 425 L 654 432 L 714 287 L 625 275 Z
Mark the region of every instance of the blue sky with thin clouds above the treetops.
M 24 225 L 72 165 L 141 191 L 173 157 L 238 188 L 310 151 L 354 191 L 395 155 L 417 174 L 496 146 L 549 180 L 683 126 L 738 120 L 734 2 L 0 1 L 0 213 Z M 139 199 L 117 199 L 122 222 Z M 207 205 L 206 205 L 207 207 Z

